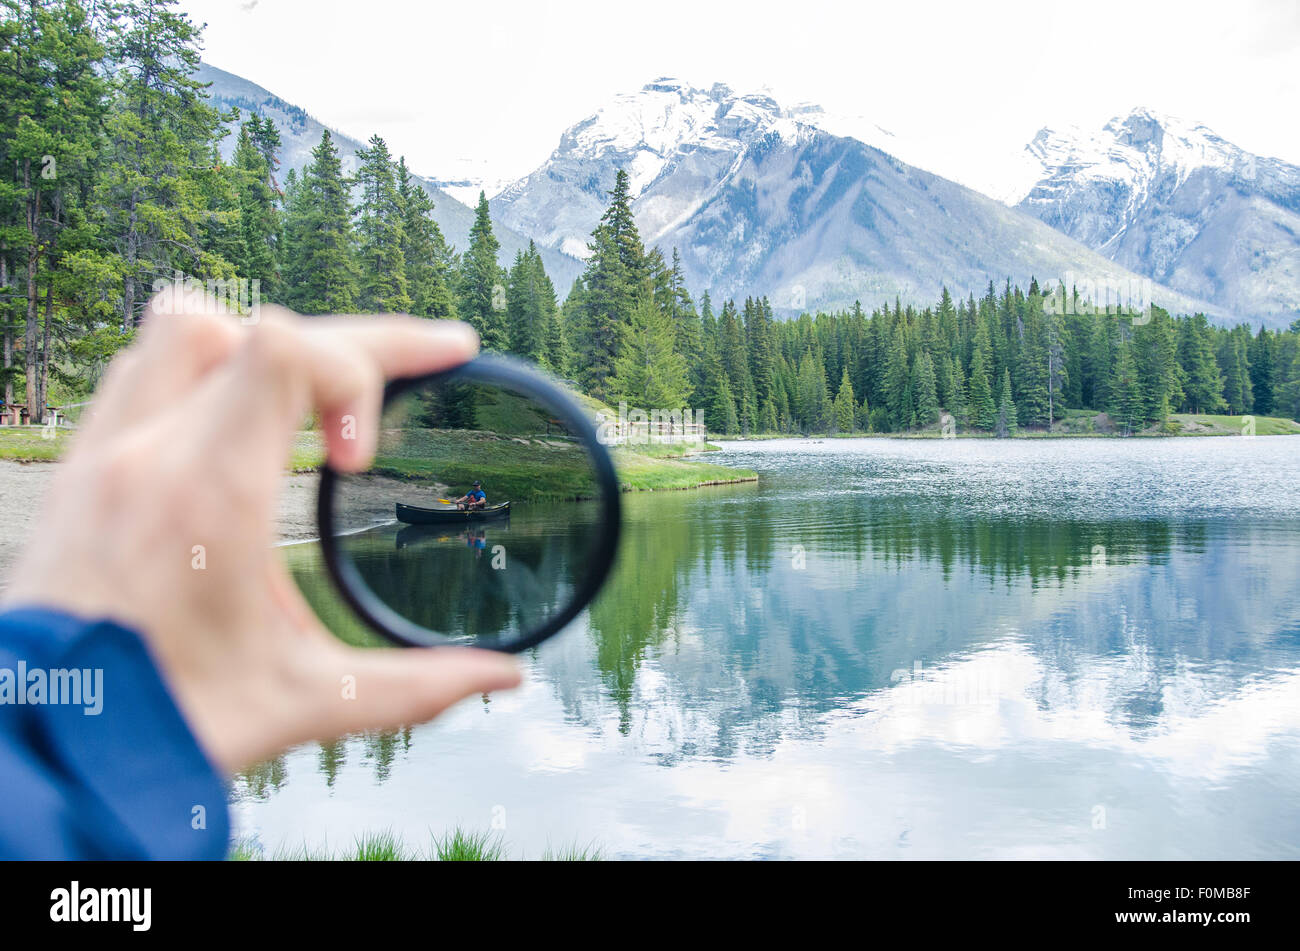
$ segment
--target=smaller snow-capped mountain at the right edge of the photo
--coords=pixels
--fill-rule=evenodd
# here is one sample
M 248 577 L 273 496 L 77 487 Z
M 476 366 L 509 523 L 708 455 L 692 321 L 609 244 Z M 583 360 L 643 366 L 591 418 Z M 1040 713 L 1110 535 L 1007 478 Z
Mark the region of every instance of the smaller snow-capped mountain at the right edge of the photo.
M 1043 129 L 1006 197 L 1115 264 L 1243 318 L 1300 317 L 1300 169 L 1149 109 Z

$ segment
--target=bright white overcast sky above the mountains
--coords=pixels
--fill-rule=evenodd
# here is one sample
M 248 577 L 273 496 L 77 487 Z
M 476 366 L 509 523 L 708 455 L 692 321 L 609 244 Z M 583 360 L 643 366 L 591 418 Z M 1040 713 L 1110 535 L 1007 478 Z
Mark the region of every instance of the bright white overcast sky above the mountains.
M 1300 165 L 1300 0 L 182 0 L 205 58 L 434 178 L 511 179 L 662 75 L 864 116 L 979 186 L 1135 105 Z

